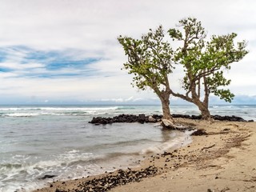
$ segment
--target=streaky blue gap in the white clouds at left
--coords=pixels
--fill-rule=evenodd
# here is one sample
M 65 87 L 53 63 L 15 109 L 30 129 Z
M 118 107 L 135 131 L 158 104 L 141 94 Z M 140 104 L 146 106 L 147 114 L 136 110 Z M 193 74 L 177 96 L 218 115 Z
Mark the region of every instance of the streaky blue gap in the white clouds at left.
M 76 56 L 76 52 L 79 56 Z M 30 78 L 91 76 L 96 73 L 97 70 L 92 70 L 90 65 L 102 58 L 81 58 L 80 54 L 81 50 L 42 51 L 26 46 L 5 47 L 0 50 L 0 71 L 15 70 L 11 69 L 11 66 L 1 66 L 1 63 L 10 62 L 20 66 L 18 67 L 20 68 L 18 69 L 19 76 Z M 37 67 L 34 64 L 39 65 Z M 23 74 L 22 70 L 24 70 Z

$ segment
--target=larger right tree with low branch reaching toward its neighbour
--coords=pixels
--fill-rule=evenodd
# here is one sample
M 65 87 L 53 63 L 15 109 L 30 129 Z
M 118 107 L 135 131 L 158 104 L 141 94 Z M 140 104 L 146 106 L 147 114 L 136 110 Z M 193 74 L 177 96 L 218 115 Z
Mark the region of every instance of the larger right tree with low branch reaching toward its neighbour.
M 186 18 L 179 21 L 183 31 L 168 30 L 174 41 L 182 42 L 182 46 L 175 50 L 174 61 L 183 66 L 185 76 L 182 88 L 185 94 L 171 94 L 178 98 L 192 102 L 201 111 L 203 119 L 210 119 L 209 96 L 214 94 L 226 102 L 231 102 L 234 94 L 224 86 L 230 85 L 223 70 L 230 70 L 230 64 L 240 61 L 248 51 L 246 42 L 237 42 L 237 34 L 213 35 L 206 41 L 206 32 L 196 18 Z

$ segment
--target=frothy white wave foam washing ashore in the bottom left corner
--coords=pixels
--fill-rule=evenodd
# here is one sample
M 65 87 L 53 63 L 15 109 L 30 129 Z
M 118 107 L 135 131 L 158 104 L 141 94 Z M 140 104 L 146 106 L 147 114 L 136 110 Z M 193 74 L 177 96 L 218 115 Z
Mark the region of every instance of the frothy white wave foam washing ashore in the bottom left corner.
M 35 190 L 51 181 L 50 179 L 38 179 L 46 174 L 57 175 L 57 179 L 86 176 L 88 174 L 85 173 L 85 169 L 94 174 L 94 171 L 99 171 L 100 167 L 89 162 L 93 158 L 95 158 L 94 154 L 81 154 L 79 150 L 70 150 L 65 154 L 54 155 L 51 160 L 39 160 L 37 162 L 28 159 L 26 155 L 14 155 L 12 162 L 14 166 L 12 164 L 6 166 L 0 164 L 0 191 Z M 16 163 L 14 164 L 14 162 Z

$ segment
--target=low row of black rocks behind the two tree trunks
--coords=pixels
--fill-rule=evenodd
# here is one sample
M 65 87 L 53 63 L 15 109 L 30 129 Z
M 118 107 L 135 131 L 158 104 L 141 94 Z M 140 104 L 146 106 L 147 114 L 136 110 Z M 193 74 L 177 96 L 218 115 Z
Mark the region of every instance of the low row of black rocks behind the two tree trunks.
M 190 118 L 190 119 L 201 119 L 201 115 L 188 115 L 188 114 L 172 114 L 173 118 Z M 230 122 L 246 122 L 245 119 L 237 117 L 237 116 L 220 116 L 220 115 L 212 115 L 211 118 L 218 121 L 230 121 Z M 102 118 L 102 117 L 96 117 L 93 118 L 90 123 L 93 123 L 95 125 L 99 124 L 110 124 L 114 122 L 139 122 L 139 123 L 145 123 L 145 122 L 160 122 L 162 121 L 162 115 L 159 114 L 153 114 L 153 115 L 145 115 L 145 114 L 120 114 L 118 116 L 115 116 L 113 118 Z M 253 120 L 250 120 L 250 122 Z

